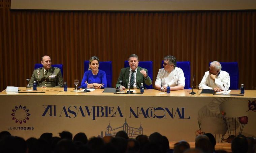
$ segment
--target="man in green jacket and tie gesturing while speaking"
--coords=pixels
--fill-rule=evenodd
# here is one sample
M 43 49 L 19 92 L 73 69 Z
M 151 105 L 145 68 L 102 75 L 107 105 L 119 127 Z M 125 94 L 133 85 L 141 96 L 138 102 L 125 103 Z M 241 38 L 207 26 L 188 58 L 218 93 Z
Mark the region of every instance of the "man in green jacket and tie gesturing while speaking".
M 139 89 L 141 83 L 143 85 L 150 86 L 152 84 L 152 80 L 148 76 L 148 70 L 146 68 L 139 67 L 139 59 L 138 56 L 132 54 L 128 58 L 128 62 L 130 67 L 122 68 L 118 77 L 118 81 L 116 84 L 116 88 L 125 89 Z M 119 81 L 123 81 L 122 85 Z

